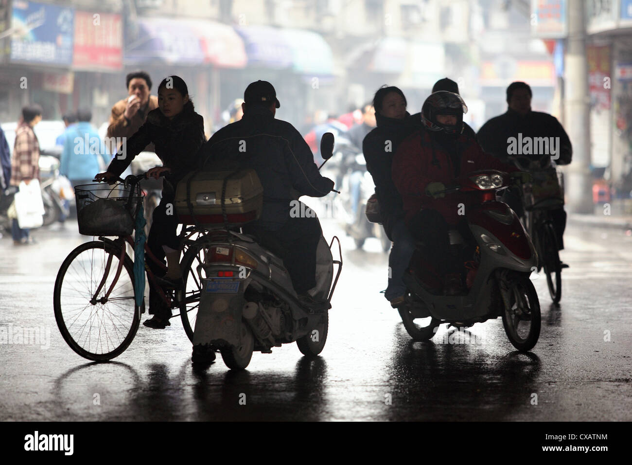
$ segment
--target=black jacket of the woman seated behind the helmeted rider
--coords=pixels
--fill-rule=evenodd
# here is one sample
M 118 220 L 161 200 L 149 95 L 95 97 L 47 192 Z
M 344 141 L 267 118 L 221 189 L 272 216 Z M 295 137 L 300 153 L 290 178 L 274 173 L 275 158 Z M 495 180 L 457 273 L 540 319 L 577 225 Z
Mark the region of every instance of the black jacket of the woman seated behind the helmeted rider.
M 391 239 L 392 226 L 404 216 L 401 195 L 392 181 L 392 161 L 399 143 L 420 126 L 421 120 L 413 120 L 408 113 L 403 120 L 397 120 L 376 112 L 375 121 L 377 127 L 364 138 L 362 152 L 367 161 L 367 170 L 375 183 L 375 195 L 380 203 L 384 230 Z

